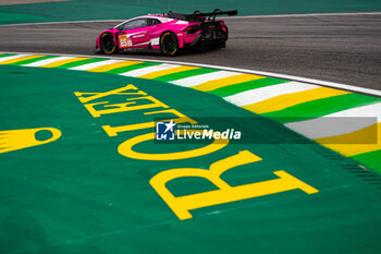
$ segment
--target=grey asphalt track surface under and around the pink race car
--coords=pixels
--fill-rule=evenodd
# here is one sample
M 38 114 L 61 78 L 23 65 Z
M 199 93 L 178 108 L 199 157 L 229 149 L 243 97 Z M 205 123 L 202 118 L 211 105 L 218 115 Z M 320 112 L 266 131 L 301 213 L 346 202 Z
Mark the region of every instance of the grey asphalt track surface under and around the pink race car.
M 0 26 L 0 50 L 98 55 L 95 39 L 119 22 Z M 226 20 L 225 49 L 118 57 L 218 64 L 381 89 L 381 15 L 305 15 Z

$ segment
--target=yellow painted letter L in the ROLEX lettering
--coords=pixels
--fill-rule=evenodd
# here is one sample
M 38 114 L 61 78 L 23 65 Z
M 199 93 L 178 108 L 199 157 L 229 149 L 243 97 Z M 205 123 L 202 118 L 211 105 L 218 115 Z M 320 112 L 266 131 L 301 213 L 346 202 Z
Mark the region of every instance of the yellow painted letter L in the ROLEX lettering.
M 152 112 L 145 112 L 144 114 L 155 114 L 155 113 L 173 113 L 179 118 L 173 118 L 173 119 L 168 119 L 168 120 L 162 120 L 162 121 L 171 121 L 175 123 L 183 123 L 183 122 L 188 122 L 196 124 L 197 122 L 185 114 L 179 112 L 175 109 L 165 109 L 165 110 L 160 110 L 160 111 L 152 111 Z M 103 125 L 105 132 L 109 136 L 116 136 L 118 133 L 120 132 L 127 132 L 127 131 L 135 131 L 135 130 L 142 130 L 142 129 L 149 129 L 149 128 L 155 128 L 156 122 L 145 122 L 145 123 L 137 123 L 137 124 L 127 124 L 127 125 L 122 125 L 122 126 L 110 126 L 110 125 Z

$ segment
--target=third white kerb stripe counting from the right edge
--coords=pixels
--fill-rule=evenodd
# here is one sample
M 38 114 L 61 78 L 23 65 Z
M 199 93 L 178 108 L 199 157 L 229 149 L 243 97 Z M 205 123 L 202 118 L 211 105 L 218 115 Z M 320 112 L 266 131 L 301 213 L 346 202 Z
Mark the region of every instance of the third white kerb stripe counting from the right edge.
M 236 76 L 241 74 L 242 74 L 241 72 L 218 71 L 218 72 L 181 78 L 170 83 L 174 85 L 184 86 L 184 87 L 192 87 L 209 81 L 220 80 L 220 78 L 230 77 L 230 76 Z

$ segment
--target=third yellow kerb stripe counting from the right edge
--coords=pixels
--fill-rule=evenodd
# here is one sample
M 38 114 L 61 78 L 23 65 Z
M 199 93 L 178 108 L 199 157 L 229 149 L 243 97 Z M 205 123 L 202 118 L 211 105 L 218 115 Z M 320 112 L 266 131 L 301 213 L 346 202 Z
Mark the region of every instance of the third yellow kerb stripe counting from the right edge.
M 198 89 L 198 90 L 213 90 L 223 86 L 234 85 L 238 83 L 244 83 L 248 81 L 255 81 L 259 78 L 263 78 L 265 76 L 258 76 L 253 74 L 241 74 L 236 76 L 230 76 L 230 77 L 223 77 L 219 80 L 208 81 L 206 83 L 202 83 L 200 85 L 193 86 L 192 88 Z

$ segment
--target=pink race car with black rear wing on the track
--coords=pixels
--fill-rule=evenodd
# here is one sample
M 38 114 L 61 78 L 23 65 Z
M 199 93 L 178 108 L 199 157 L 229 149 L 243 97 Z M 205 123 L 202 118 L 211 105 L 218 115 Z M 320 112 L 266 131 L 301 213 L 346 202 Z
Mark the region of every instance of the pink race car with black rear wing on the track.
M 228 27 L 223 21 L 216 21 L 216 16 L 236 14 L 237 11 L 216 9 L 211 13 L 169 12 L 134 17 L 100 33 L 97 49 L 103 53 L 156 49 L 174 56 L 180 49 L 196 45 L 224 48 Z

